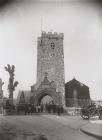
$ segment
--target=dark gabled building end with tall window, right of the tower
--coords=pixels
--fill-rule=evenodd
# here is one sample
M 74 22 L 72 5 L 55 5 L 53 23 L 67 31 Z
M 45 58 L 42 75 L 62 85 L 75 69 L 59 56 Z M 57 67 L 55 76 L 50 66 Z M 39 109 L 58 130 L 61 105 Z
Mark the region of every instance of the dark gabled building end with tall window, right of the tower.
M 90 103 L 89 87 L 75 78 L 65 84 L 65 100 L 67 107 L 83 107 Z

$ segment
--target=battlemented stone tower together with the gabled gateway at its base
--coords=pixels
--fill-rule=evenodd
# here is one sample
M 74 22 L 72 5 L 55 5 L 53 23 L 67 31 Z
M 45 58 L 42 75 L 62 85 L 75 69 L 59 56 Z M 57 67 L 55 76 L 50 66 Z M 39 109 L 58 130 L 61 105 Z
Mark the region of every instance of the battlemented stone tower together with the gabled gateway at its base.
M 65 105 L 63 33 L 42 32 L 37 41 L 37 82 L 31 86 L 36 104 L 46 95 Z

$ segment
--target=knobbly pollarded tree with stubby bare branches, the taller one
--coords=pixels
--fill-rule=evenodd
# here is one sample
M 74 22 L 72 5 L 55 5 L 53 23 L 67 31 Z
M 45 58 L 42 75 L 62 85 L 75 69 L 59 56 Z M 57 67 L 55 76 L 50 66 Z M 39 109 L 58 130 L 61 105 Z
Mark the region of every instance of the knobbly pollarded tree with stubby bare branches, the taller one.
M 18 85 L 18 81 L 14 81 L 14 72 L 15 72 L 15 66 L 10 66 L 9 64 L 5 67 L 5 70 L 9 73 L 9 84 L 8 84 L 8 90 L 9 90 L 9 99 L 13 102 L 13 92 L 15 91 L 15 88 Z

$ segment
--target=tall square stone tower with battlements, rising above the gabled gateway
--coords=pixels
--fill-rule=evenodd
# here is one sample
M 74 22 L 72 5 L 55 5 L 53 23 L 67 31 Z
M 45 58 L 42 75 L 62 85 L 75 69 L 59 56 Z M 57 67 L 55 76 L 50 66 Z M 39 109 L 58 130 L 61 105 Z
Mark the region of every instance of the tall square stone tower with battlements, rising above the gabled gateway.
M 42 32 L 37 42 L 37 83 L 41 83 L 45 73 L 48 80 L 54 82 L 56 92 L 61 93 L 65 100 L 65 73 L 64 73 L 64 51 L 63 33 Z

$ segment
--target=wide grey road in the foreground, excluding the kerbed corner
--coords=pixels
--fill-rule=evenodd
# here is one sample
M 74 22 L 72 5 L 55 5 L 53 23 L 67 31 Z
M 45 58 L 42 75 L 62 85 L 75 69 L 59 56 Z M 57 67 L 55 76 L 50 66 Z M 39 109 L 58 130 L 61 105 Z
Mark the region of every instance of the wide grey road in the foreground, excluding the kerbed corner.
M 0 140 L 96 140 L 80 131 L 80 117 L 56 115 L 0 116 Z

